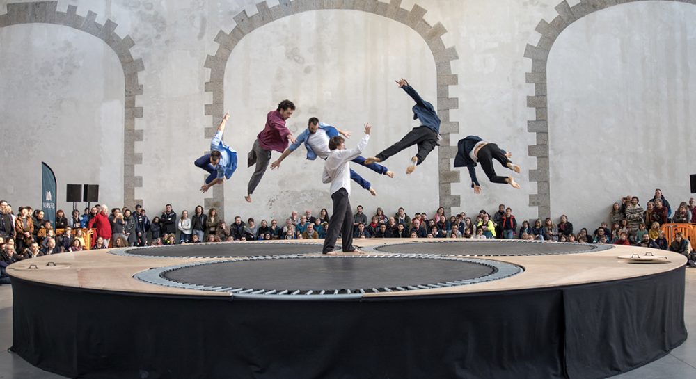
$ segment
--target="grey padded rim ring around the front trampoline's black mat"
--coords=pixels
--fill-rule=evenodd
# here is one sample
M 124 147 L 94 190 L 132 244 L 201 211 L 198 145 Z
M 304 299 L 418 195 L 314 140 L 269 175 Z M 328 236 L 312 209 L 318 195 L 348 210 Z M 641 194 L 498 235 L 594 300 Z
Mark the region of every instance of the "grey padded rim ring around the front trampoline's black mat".
M 172 280 L 166 275 L 173 271 L 182 270 L 195 266 L 214 265 L 214 264 L 234 264 L 235 262 L 248 261 L 268 261 L 275 259 L 436 259 L 439 261 L 466 262 L 470 264 L 480 264 L 493 268 L 493 272 L 480 277 L 462 279 L 462 280 L 443 280 L 431 283 L 416 283 L 404 286 L 390 287 L 370 287 L 370 288 L 355 288 L 355 289 L 320 289 L 320 290 L 299 290 L 299 289 L 279 289 L 279 288 L 248 288 L 240 287 L 221 287 L 213 285 L 200 285 L 195 283 L 184 283 Z M 416 266 L 417 267 L 417 266 Z M 239 257 L 237 259 L 227 259 L 222 261 L 203 261 L 190 264 L 180 264 L 176 266 L 167 266 L 161 268 L 151 268 L 148 271 L 143 271 L 134 275 L 134 277 L 143 282 L 157 284 L 166 287 L 175 287 L 179 289 L 195 289 L 202 291 L 217 291 L 227 292 L 233 298 L 262 298 L 269 300 L 326 300 L 326 299 L 357 299 L 362 298 L 365 293 L 380 293 L 380 292 L 404 292 L 417 291 L 420 289 L 439 289 L 444 287 L 463 286 L 466 284 L 475 284 L 482 282 L 490 282 L 492 280 L 500 280 L 505 277 L 511 277 L 523 272 L 523 268 L 514 264 L 509 264 L 503 261 L 491 261 L 487 259 L 471 259 L 458 258 L 447 255 L 432 255 L 432 254 L 395 254 L 395 255 L 271 255 L 260 257 Z M 404 273 L 406 281 L 408 273 Z

